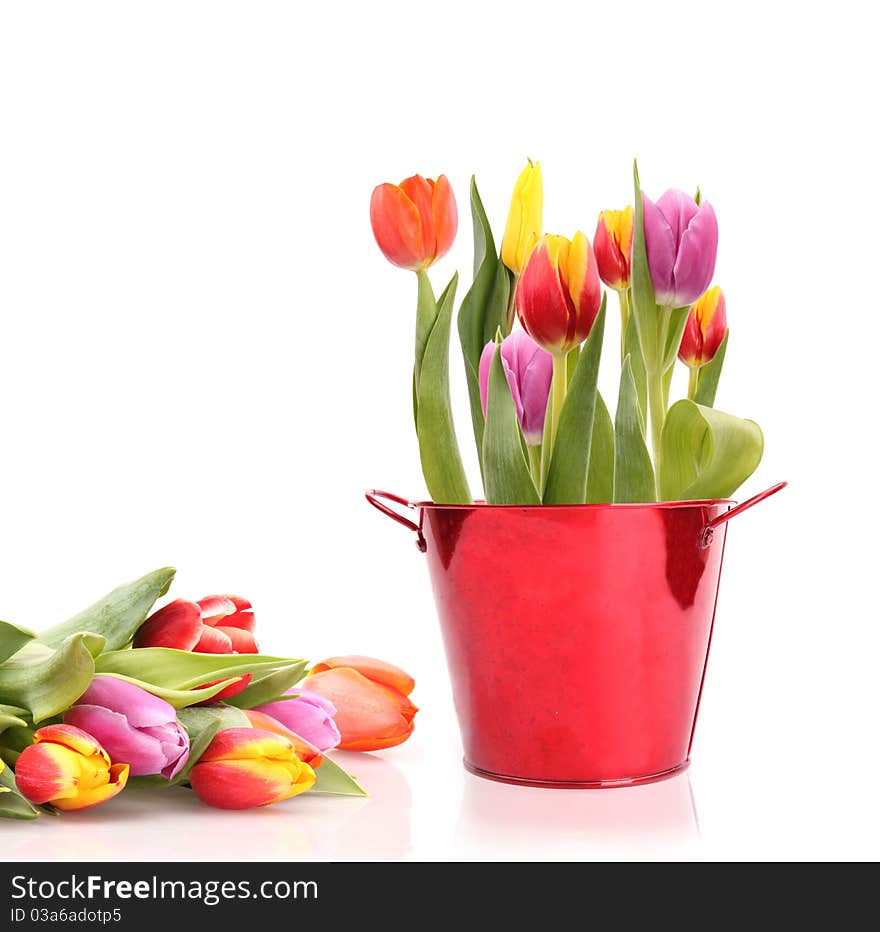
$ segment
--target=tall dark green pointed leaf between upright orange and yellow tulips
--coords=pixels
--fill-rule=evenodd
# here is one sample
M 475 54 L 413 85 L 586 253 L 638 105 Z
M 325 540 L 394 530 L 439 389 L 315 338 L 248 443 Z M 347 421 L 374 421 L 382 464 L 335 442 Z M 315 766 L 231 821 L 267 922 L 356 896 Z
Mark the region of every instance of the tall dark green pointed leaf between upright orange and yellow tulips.
M 474 440 L 482 469 L 484 419 L 480 404 L 480 356 L 483 347 L 495 338 L 499 327 L 503 334 L 508 332 L 507 305 L 512 283 L 510 273 L 495 251 L 492 228 L 473 177 L 471 216 L 474 224 L 474 280 L 458 312 L 458 338 L 464 356 Z

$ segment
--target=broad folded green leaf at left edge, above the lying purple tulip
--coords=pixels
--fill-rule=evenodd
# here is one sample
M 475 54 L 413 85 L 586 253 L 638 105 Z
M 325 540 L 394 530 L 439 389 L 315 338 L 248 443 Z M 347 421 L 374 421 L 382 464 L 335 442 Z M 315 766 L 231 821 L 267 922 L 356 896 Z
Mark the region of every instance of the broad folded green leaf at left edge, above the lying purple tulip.
M 104 638 L 72 634 L 58 650 L 31 641 L 0 666 L 0 702 L 27 709 L 41 722 L 58 715 L 86 691 Z

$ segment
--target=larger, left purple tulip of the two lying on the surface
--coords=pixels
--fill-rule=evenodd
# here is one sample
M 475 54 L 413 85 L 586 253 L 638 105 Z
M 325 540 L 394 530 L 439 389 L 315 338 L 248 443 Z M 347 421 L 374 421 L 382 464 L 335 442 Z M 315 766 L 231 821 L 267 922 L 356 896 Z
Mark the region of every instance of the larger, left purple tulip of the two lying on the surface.
M 174 707 L 115 676 L 96 676 L 64 721 L 88 732 L 114 763 L 128 764 L 133 777 L 159 773 L 171 780 L 189 757 L 189 735 Z

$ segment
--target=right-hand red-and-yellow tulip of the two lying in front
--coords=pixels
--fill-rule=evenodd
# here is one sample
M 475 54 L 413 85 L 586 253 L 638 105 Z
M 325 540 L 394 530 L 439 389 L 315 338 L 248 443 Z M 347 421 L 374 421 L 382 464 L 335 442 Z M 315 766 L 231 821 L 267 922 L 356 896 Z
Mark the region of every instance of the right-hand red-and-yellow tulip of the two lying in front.
M 189 781 L 209 806 L 251 809 L 305 793 L 315 783 L 315 772 L 283 735 L 262 728 L 227 728 L 208 745 Z

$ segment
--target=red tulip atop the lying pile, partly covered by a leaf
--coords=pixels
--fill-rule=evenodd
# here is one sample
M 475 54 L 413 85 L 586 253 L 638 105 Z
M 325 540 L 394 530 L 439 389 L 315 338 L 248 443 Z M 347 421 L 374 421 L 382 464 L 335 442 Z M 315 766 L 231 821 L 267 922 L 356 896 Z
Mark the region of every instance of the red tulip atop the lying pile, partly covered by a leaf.
M 256 654 L 255 625 L 251 603 L 237 595 L 205 596 L 198 602 L 175 599 L 141 625 L 134 646 L 171 647 L 199 654 Z M 251 679 L 250 673 L 244 675 L 211 701 L 240 693 Z

